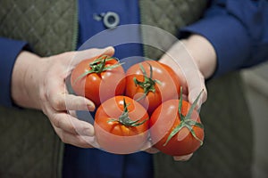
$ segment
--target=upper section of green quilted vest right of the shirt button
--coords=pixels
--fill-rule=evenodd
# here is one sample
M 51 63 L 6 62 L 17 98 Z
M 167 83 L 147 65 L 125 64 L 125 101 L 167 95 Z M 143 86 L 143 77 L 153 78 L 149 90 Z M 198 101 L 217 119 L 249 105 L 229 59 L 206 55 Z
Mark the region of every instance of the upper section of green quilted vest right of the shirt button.
M 198 20 L 206 4 L 206 0 L 140 0 L 142 24 L 155 27 L 141 29 L 143 43 L 147 44 L 144 45 L 145 55 L 149 59 L 159 59 L 171 47 L 174 40 L 177 40 L 174 36 L 178 35 L 178 29 Z

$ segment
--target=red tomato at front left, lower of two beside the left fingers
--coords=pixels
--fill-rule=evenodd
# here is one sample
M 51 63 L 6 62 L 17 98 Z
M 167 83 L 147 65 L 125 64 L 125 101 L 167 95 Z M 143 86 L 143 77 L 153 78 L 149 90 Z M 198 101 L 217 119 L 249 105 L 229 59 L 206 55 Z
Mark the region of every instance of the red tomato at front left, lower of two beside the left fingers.
M 138 151 L 147 142 L 148 118 L 147 110 L 127 96 L 108 99 L 96 110 L 96 142 L 116 154 Z

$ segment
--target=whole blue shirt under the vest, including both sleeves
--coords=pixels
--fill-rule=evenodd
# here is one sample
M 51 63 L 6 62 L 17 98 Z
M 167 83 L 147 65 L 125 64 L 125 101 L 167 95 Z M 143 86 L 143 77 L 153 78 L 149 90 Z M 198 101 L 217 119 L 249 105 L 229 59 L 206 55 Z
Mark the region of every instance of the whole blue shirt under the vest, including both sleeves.
M 79 1 L 80 37 L 78 47 L 90 36 L 105 29 L 102 20 L 93 15 L 117 12 L 120 25 L 139 23 L 138 1 Z M 116 4 L 116 5 L 114 5 Z M 175 18 L 175 17 L 174 17 Z M 180 29 L 180 37 L 197 33 L 205 36 L 217 54 L 215 76 L 235 69 L 246 68 L 267 60 L 268 52 L 268 2 L 265 0 L 215 0 L 210 1 L 202 20 Z M 137 36 L 138 37 L 138 36 Z M 13 64 L 26 42 L 0 38 L 0 104 L 13 106 L 10 86 Z M 116 46 L 115 56 L 123 59 L 142 55 L 139 44 Z M 93 161 L 92 161 L 93 160 Z M 66 146 L 63 175 L 73 177 L 135 177 L 152 176 L 152 159 L 147 153 L 127 156 L 113 155 L 100 150 L 86 150 Z M 108 175 L 111 173 L 110 175 Z M 136 173 L 136 174 L 133 174 Z

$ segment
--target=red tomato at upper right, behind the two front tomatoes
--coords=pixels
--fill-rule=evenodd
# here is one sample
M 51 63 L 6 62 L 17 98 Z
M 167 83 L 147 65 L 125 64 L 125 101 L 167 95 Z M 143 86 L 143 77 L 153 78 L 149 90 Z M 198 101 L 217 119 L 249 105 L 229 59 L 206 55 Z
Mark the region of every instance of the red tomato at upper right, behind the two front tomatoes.
M 180 95 L 180 79 L 167 65 L 143 61 L 126 72 L 127 96 L 137 100 L 151 114 L 163 101 Z

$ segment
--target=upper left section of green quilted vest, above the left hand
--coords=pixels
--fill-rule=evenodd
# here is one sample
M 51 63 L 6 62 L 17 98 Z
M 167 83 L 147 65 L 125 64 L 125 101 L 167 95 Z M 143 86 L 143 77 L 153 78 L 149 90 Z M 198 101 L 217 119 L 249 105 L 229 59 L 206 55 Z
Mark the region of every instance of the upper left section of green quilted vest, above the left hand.
M 25 40 L 41 56 L 75 49 L 75 11 L 75 0 L 1 1 L 0 36 Z

